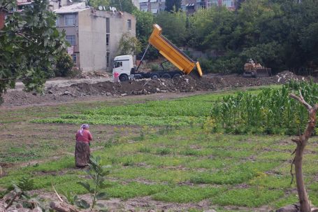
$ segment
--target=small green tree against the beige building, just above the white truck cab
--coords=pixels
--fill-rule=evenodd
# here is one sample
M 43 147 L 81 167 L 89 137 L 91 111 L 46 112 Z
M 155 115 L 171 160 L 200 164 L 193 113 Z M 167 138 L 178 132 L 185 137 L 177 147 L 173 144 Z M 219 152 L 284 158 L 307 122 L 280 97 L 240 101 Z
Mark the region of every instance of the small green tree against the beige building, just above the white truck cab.
M 118 47 L 120 55 L 138 55 L 140 48 L 140 42 L 136 37 L 131 36 L 129 32 L 122 34 L 120 46 Z

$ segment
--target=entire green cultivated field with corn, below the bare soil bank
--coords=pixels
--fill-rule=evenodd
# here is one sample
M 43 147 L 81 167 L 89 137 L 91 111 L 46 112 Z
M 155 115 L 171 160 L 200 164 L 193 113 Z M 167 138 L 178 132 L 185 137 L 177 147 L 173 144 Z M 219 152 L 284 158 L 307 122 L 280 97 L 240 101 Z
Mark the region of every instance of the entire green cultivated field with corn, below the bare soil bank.
M 5 170 L 0 188 L 8 188 L 12 181 L 23 181 L 23 176 L 29 182 L 27 190 L 36 190 L 40 195 L 52 193 L 53 183 L 68 202 L 75 195 L 87 199 L 87 183 L 92 187 L 94 181 L 82 169 L 73 169 L 73 142 L 61 142 L 63 136 L 59 135 L 69 135 L 69 127 L 76 130 L 77 125 L 73 124 L 89 122 L 95 137 L 93 155 L 101 157 L 102 165 L 112 166 L 106 187 L 99 191 L 111 198 L 98 200 L 105 209 L 270 211 L 294 204 L 297 196 L 289 173 L 294 143 L 288 135 L 303 129 L 307 113 L 287 95 L 299 89 L 308 102 L 317 101 L 317 84 L 290 83 L 281 88 L 238 93 L 145 103 L 128 101 L 120 106 L 92 102 L 13 111 L 12 114 L 23 114 L 22 122 L 30 125 L 28 133 L 34 130 L 34 134 L 47 134 L 45 139 L 34 136 L 36 143 L 24 143 L 23 148 L 15 149 L 15 154 L 24 155 L 28 148 L 38 145 L 48 152 L 45 155 L 59 157 Z M 11 123 L 12 114 L 1 114 L 2 118 L 8 115 L 4 120 L 8 121 L 9 131 L 10 126 L 22 123 Z M 117 128 L 107 135 L 104 131 L 110 125 Z M 17 129 L 10 134 L 14 130 Z M 18 130 L 21 133 L 23 129 Z M 73 139 L 73 132 L 68 139 Z M 318 205 L 317 151 L 318 139 L 314 136 L 303 167 L 314 205 Z M 2 161 L 6 161 L 4 156 Z M 114 199 L 120 199 L 118 204 Z

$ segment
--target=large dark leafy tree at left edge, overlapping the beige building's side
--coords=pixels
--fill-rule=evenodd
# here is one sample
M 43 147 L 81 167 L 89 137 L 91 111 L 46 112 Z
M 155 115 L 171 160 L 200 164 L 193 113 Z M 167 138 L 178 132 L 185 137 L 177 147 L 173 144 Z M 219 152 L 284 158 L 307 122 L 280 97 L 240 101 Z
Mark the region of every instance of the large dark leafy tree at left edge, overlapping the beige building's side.
M 14 6 L 13 0 L 0 1 L 1 11 Z M 41 92 L 46 72 L 65 50 L 65 34 L 57 31 L 56 16 L 47 6 L 47 1 L 34 0 L 32 6 L 6 19 L 0 31 L 0 98 L 8 87 L 15 87 L 17 79 L 27 92 Z

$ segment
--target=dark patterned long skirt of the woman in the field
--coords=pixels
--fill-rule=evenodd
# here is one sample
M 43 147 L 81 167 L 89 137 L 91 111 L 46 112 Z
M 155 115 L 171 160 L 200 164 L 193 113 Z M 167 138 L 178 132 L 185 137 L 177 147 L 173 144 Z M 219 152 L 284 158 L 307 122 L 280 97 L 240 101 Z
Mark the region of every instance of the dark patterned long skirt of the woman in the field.
M 76 167 L 86 167 L 89 164 L 89 143 L 76 141 L 75 145 L 75 165 Z

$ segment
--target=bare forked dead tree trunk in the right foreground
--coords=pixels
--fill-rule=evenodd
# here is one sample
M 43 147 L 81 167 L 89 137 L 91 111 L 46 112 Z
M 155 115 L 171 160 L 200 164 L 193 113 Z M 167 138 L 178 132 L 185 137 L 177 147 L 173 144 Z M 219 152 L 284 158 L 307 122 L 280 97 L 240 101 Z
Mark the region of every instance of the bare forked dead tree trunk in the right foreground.
M 299 97 L 295 94 L 290 94 L 289 97 L 296 99 L 307 108 L 309 120 L 304 134 L 300 135 L 298 139 L 291 139 L 297 145 L 293 162 L 295 164 L 296 185 L 299 203 L 301 204 L 301 212 L 310 212 L 310 202 L 308 200 L 308 195 L 305 190 L 305 183 L 303 181 L 303 152 L 305 150 L 305 146 L 308 143 L 308 139 L 315 129 L 318 104 L 310 106 L 310 104 L 308 104 L 305 99 L 303 99 L 301 91 L 299 93 Z

